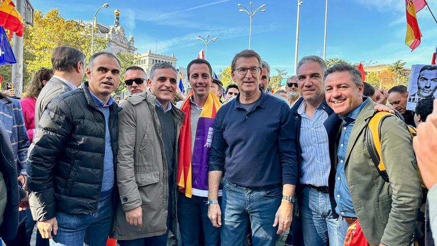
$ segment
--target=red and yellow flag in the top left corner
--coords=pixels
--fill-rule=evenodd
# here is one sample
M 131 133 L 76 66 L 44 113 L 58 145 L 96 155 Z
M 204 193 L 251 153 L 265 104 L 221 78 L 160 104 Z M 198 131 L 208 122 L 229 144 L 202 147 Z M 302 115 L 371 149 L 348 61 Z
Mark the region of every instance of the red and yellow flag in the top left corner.
M 0 0 L 0 26 L 9 29 L 9 38 L 15 35 L 22 37 L 24 31 L 23 18 L 18 13 L 12 0 Z

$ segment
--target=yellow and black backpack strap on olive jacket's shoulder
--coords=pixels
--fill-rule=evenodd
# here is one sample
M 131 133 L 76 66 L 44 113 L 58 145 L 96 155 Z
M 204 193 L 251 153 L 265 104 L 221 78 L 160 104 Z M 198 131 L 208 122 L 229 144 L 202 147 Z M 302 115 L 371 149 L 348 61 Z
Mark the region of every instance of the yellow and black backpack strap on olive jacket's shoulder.
M 381 123 L 386 117 L 395 116 L 394 114 L 388 112 L 376 112 L 373 114 L 372 118 L 367 123 L 367 128 L 365 130 L 365 146 L 370 158 L 373 161 L 379 175 L 388 182 L 388 174 L 385 170 L 384 162 L 381 156 Z

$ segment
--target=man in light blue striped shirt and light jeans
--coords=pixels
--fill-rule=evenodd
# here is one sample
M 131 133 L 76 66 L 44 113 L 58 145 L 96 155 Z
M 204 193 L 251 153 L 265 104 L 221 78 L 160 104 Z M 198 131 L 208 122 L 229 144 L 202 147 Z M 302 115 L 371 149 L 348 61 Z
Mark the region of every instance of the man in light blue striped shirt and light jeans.
M 301 94 L 291 114 L 296 131 L 296 150 L 299 164 L 298 206 L 305 245 L 336 245 L 337 226 L 333 218 L 328 193 L 331 167 L 328 131 L 323 125 L 332 109 L 326 104 L 323 75 L 325 61 L 317 56 L 302 58 L 297 64 L 297 82 Z M 293 222 L 293 245 L 300 244 L 299 217 Z M 328 240 L 329 237 L 329 240 Z M 291 243 L 291 242 L 290 242 Z

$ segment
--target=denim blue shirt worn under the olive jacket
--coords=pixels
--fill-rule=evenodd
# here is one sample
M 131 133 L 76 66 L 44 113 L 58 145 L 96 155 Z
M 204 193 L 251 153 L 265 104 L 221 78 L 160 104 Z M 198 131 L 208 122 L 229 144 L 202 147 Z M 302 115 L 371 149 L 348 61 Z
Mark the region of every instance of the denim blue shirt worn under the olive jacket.
M 335 174 L 336 180 L 334 186 L 334 198 L 337 202 L 335 212 L 344 217 L 357 218 L 354 205 L 352 204 L 351 194 L 349 193 L 348 182 L 346 181 L 345 157 L 346 149 L 348 148 L 349 136 L 351 135 L 352 128 L 355 125 L 355 120 L 368 102 L 369 98 L 365 99 L 364 102 L 352 110 L 352 112 L 350 112 L 342 122 L 342 132 L 337 151 L 338 164 Z

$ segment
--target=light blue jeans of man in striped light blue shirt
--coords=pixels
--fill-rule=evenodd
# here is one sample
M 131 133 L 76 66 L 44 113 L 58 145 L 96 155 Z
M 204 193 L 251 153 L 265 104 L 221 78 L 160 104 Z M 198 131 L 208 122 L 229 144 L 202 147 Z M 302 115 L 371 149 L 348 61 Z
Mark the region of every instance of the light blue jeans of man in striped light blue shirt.
M 339 246 L 336 240 L 337 220 L 332 217 L 329 193 L 303 187 L 299 198 L 305 246 L 328 245 L 328 242 L 330 246 Z

